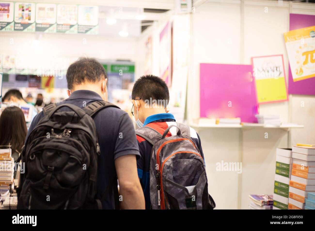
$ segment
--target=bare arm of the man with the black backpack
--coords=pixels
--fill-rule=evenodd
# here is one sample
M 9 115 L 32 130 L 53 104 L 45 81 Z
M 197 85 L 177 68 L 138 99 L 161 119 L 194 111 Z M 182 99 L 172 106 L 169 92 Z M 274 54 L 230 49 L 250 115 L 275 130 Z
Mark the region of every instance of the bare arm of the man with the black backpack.
M 125 155 L 115 159 L 119 182 L 119 194 L 122 195 L 122 209 L 145 209 L 144 195 L 137 173 L 135 155 Z

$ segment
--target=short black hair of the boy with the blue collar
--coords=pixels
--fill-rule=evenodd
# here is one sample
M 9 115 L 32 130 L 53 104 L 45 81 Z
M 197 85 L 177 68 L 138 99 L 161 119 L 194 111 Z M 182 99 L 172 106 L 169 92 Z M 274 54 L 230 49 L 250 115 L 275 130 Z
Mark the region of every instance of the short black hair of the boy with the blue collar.
M 167 100 L 169 102 L 169 88 L 164 80 L 155 75 L 143 75 L 136 82 L 132 89 L 131 98 L 140 97 L 143 101 Z M 166 105 L 167 106 L 167 105 Z

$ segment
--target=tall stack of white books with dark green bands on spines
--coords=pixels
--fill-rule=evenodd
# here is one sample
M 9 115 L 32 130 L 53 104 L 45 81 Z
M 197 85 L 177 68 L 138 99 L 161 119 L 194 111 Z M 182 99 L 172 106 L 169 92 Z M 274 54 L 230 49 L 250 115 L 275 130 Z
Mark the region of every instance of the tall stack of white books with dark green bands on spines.
M 292 149 L 277 148 L 273 209 L 288 209 L 289 181 L 292 171 Z

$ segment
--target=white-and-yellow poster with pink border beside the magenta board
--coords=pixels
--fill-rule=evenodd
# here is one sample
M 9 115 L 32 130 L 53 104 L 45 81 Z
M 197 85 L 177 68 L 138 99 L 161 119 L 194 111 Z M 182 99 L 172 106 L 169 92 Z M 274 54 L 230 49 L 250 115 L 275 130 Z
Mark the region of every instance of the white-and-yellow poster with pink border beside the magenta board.
M 288 100 L 283 55 L 253 57 L 258 103 Z

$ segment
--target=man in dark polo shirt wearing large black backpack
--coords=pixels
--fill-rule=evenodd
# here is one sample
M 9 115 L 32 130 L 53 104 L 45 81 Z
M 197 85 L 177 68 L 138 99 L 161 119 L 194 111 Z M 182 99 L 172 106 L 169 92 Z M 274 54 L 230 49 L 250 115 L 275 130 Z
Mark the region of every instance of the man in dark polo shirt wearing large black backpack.
M 66 74 L 68 96 L 43 108 L 22 151 L 18 209 L 144 209 L 140 157 L 128 113 L 107 102 L 107 76 L 94 58 Z M 117 190 L 119 182 L 119 195 Z

